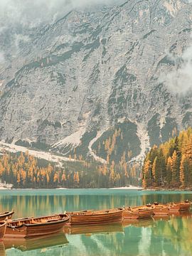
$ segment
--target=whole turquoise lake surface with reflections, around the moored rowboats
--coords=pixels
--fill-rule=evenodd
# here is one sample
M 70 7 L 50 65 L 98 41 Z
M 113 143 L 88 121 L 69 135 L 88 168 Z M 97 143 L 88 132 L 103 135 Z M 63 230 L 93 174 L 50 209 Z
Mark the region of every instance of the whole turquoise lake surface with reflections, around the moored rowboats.
M 14 218 L 65 210 L 137 206 L 159 201 L 192 201 L 192 192 L 109 189 L 0 191 L 0 211 L 14 208 Z M 66 228 L 65 234 L 35 240 L 5 240 L 0 255 L 192 255 L 190 214 L 166 219 L 127 221 L 122 225 Z

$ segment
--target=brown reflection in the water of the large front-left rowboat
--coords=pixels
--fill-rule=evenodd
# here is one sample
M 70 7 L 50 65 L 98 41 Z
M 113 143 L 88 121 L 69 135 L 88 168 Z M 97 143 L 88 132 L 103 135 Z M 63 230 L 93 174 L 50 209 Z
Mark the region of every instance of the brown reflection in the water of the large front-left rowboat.
M 51 235 L 41 235 L 31 238 L 5 238 L 5 249 L 16 248 L 22 252 L 28 250 L 37 250 L 50 247 L 64 246 L 68 240 L 64 233 L 55 233 Z M 0 254 L 1 255 L 1 254 Z

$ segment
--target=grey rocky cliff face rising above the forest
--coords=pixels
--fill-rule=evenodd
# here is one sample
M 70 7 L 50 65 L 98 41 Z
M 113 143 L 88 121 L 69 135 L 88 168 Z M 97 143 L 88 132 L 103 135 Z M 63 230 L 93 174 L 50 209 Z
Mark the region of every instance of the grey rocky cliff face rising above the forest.
M 18 41 L 15 58 L 5 31 L 0 139 L 105 162 L 101 145 L 116 131 L 114 155 L 132 151 L 129 158 L 140 159 L 173 129 L 192 124 L 191 95 L 178 97 L 160 79 L 181 64 L 191 14 L 184 0 L 70 11 L 54 24 L 21 30 L 28 40 Z

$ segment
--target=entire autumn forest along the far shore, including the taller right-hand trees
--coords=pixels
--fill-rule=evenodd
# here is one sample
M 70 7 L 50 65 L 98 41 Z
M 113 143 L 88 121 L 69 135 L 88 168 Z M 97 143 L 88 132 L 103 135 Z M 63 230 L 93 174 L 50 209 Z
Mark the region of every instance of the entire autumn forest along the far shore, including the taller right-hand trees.
M 105 147 L 110 149 L 110 146 Z M 14 188 L 112 188 L 141 185 L 140 166 L 130 164 L 125 152 L 119 161 L 107 159 L 107 164 L 99 164 L 91 159 L 85 161 L 82 157 L 76 160 L 58 166 L 35 158 L 28 151 L 16 154 L 4 151 L 0 155 L 0 178 L 2 182 L 13 184 Z M 142 186 L 192 188 L 192 128 L 180 132 L 169 142 L 152 147 L 142 166 Z

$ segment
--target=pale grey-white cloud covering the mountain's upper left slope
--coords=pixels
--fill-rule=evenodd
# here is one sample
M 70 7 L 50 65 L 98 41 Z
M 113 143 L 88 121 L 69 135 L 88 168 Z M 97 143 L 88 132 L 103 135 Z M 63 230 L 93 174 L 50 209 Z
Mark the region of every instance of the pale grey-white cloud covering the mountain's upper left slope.
M 72 9 L 121 1 L 125 0 L 0 0 L 0 63 L 23 50 L 34 28 L 54 23 Z

